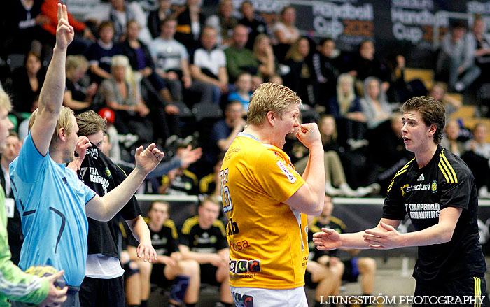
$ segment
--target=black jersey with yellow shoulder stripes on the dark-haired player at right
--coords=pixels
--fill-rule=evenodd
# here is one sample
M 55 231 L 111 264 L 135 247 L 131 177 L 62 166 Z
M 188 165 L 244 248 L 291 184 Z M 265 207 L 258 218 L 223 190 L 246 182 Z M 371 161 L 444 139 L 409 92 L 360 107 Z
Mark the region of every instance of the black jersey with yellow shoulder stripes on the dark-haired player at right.
M 440 210 L 463 208 L 451 241 L 419 247 L 416 280 L 454 280 L 483 276 L 486 271 L 477 224 L 475 178 L 456 155 L 438 146 L 430 162 L 419 169 L 412 159 L 396 173 L 384 201 L 383 217 L 408 215 L 417 231 L 439 221 Z

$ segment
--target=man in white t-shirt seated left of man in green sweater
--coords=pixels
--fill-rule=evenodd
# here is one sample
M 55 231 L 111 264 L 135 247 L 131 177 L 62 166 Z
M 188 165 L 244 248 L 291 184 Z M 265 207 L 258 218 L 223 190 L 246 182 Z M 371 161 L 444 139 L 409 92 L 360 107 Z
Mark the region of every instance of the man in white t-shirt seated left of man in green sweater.
M 213 102 L 219 104 L 221 94 L 228 92 L 228 71 L 225 52 L 216 47 L 216 29 L 202 29 L 201 45 L 190 55 L 190 73 L 194 80 L 211 85 Z

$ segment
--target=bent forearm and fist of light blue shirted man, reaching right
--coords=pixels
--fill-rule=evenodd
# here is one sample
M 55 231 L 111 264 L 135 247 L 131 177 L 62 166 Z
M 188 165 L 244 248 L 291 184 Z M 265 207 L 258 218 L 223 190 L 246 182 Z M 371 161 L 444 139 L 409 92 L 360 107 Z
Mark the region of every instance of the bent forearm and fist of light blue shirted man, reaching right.
M 130 176 L 127 176 L 120 185 L 105 194 L 104 197 L 101 198 L 95 195 L 87 203 L 87 217 L 101 222 L 111 220 L 131 199 L 148 173 L 153 171 L 162 161 L 163 152 L 158 150 L 155 144 L 151 144 L 146 150 L 143 150 L 143 146 L 137 148 L 135 157 L 137 165 L 130 173 Z

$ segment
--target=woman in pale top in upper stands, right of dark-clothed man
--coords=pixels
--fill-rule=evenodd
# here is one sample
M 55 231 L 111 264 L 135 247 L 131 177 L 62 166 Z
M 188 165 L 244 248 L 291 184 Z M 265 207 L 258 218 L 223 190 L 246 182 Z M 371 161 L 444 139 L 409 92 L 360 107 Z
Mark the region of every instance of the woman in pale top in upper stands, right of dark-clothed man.
M 274 33 L 274 43 L 276 45 L 275 54 L 279 62 L 283 62 L 286 52 L 295 41 L 300 38 L 300 30 L 296 27 L 296 9 L 293 6 L 285 6 L 281 10 L 279 21 L 272 27 Z

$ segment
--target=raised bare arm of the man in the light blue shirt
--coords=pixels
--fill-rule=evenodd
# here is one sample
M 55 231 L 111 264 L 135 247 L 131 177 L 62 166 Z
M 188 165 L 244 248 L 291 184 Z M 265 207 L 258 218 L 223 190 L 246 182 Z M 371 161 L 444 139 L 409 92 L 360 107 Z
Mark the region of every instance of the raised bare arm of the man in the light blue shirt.
M 56 128 L 59 111 L 63 104 L 65 87 L 66 48 L 73 41 L 75 31 L 68 24 L 66 6 L 58 4 L 58 27 L 56 45 L 52 50 L 51 62 L 39 95 L 39 108 L 36 122 L 31 129 L 32 140 L 41 155 L 46 155 L 53 132 Z

